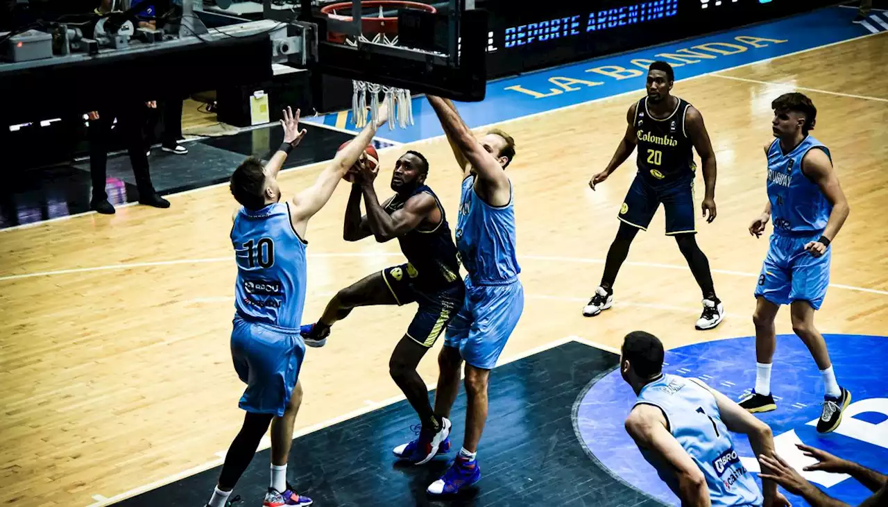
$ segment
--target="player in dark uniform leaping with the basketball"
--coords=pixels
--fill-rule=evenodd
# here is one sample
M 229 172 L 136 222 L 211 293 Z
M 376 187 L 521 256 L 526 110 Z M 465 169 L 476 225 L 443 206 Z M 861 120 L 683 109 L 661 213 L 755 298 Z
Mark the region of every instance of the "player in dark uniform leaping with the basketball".
M 345 241 L 357 242 L 369 236 L 377 242 L 397 238 L 407 263 L 370 274 L 340 290 L 321 319 L 302 328 L 305 345 L 319 347 L 326 343 L 330 327 L 357 306 L 418 304 L 407 333 L 395 345 L 389 360 L 389 373 L 416 410 L 422 427 L 418 438 L 395 455 L 416 464 L 426 463 L 439 450 L 449 448 L 450 421 L 435 416 L 416 366 L 456 316 L 464 297 L 456 245 L 450 237 L 444 207 L 425 185 L 428 174 L 429 162 L 422 154 L 412 150 L 402 154 L 392 172 L 395 194 L 385 204 L 379 203 L 373 186 L 375 164 L 363 164 L 361 170 L 350 175 L 353 184 L 345 207 Z M 367 208 L 363 216 L 361 196 Z

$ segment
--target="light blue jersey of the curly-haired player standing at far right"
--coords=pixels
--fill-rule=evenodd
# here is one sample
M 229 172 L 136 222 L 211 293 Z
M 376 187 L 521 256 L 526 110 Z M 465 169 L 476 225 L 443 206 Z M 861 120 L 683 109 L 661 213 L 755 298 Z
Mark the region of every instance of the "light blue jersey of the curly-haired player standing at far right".
M 802 159 L 813 148 L 829 156 L 829 148 L 808 136 L 789 153 L 784 154 L 780 139 L 768 149 L 768 200 L 775 234 L 817 235 L 829 221 L 832 204 L 821 187 L 802 173 Z

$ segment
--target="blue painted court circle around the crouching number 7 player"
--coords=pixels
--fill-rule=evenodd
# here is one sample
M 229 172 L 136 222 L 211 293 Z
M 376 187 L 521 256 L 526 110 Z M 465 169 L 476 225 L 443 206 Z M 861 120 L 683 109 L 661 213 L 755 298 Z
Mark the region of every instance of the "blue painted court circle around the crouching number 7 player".
M 852 392 L 836 432 L 815 430 L 821 415 L 823 381 L 811 354 L 795 335 L 777 337 L 771 386 L 777 410 L 757 414 L 771 426 L 777 453 L 798 470 L 813 463 L 795 447 L 805 443 L 836 456 L 884 472 L 888 463 L 888 337 L 825 336 L 839 384 Z M 755 337 L 732 338 L 687 345 L 666 352 L 663 370 L 680 376 L 700 377 L 711 387 L 737 400 L 756 381 Z M 635 401 L 629 384 L 614 370 L 591 385 L 575 407 L 575 430 L 592 455 L 615 476 L 646 491 L 662 502 L 679 505 L 678 498 L 657 477 L 623 428 Z M 749 440 L 734 435 L 734 446 L 749 471 L 758 471 Z M 871 495 L 856 480 L 839 474 L 802 472 L 828 495 L 856 505 Z M 759 481 L 760 484 L 760 481 Z M 794 505 L 804 505 L 787 495 Z

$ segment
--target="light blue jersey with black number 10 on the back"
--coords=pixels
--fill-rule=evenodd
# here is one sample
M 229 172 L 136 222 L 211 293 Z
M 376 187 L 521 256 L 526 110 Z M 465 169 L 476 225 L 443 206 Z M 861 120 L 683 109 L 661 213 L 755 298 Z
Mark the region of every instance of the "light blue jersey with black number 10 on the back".
M 237 261 L 234 307 L 245 320 L 299 329 L 305 306 L 306 242 L 281 202 L 234 218 L 231 242 Z

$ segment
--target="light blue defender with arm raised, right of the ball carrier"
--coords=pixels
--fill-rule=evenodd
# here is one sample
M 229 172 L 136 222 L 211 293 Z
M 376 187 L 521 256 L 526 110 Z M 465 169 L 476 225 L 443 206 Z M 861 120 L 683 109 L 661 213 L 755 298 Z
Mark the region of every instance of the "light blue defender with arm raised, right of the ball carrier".
M 475 139 L 449 100 L 428 96 L 463 171 L 456 247 L 469 274 L 465 302 L 450 323 L 438 356 L 440 376 L 435 413 L 450 414 L 465 361 L 468 408 L 459 456 L 426 491 L 448 495 L 481 478 L 476 459 L 488 416 L 490 370 L 524 310 L 521 271 L 515 257 L 515 208 L 505 168 L 515 156 L 515 142 L 503 131 Z M 395 450 L 397 452 L 397 449 Z

